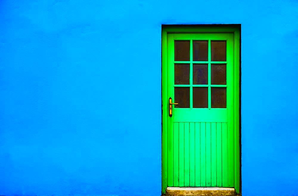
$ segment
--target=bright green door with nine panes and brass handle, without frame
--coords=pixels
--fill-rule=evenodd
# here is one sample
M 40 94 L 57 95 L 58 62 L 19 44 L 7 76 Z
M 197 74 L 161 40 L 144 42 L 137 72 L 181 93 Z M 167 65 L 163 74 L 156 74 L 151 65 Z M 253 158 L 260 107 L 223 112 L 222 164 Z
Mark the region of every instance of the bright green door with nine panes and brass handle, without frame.
M 167 187 L 238 188 L 234 49 L 234 33 L 167 33 Z

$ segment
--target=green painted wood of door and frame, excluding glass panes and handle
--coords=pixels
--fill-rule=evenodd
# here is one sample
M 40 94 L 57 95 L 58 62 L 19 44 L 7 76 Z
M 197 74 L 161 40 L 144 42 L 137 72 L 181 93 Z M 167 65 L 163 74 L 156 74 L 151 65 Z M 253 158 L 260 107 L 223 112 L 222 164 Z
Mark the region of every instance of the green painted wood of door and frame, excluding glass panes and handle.
M 179 39 L 190 40 L 190 61 L 184 61 L 190 64 L 190 68 L 193 63 L 208 63 L 207 85 L 192 85 L 192 69 L 190 70 L 190 85 L 173 84 L 174 40 Z M 208 61 L 192 61 L 192 40 L 226 40 L 227 60 L 211 62 L 209 51 Z M 210 41 L 208 45 L 210 46 Z M 175 63 L 183 62 L 175 61 Z M 210 84 L 210 64 L 213 63 L 227 64 L 226 85 Z M 209 93 L 211 87 L 227 87 L 227 108 L 211 108 L 210 96 L 208 108 L 192 108 L 192 91 L 190 91 L 190 108 L 174 107 L 173 117 L 170 118 L 168 98 L 172 97 L 175 101 L 174 86 L 185 86 L 190 89 L 205 86 L 208 87 Z M 162 193 L 165 193 L 167 186 L 226 186 L 235 187 L 236 192 L 239 193 L 239 145 L 239 30 L 234 27 L 163 28 Z

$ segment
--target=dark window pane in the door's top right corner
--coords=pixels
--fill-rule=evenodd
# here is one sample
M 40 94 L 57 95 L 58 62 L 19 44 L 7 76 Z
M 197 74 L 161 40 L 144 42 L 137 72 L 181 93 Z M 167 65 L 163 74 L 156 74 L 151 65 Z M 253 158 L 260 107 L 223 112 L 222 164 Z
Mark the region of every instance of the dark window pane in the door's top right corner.
M 211 41 L 211 61 L 226 61 L 226 41 Z

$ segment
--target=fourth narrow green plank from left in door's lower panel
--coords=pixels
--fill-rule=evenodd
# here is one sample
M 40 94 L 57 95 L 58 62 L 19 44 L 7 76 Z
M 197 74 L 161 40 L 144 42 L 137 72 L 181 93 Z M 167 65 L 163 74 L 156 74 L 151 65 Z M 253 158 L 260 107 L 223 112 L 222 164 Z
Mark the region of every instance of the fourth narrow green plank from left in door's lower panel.
M 189 138 L 190 138 L 190 157 L 189 157 L 189 161 L 190 161 L 190 169 L 189 169 L 189 173 L 190 173 L 190 186 L 194 187 L 195 186 L 195 123 L 190 123 L 190 134 L 189 134 Z

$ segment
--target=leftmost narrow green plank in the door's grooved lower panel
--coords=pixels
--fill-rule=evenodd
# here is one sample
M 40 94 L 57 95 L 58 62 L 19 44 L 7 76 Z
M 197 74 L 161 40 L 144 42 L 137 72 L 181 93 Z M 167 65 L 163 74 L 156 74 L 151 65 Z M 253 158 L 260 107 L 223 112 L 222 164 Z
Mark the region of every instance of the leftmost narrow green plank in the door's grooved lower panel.
M 179 123 L 174 123 L 173 186 L 179 186 Z

